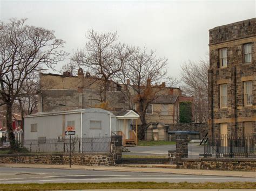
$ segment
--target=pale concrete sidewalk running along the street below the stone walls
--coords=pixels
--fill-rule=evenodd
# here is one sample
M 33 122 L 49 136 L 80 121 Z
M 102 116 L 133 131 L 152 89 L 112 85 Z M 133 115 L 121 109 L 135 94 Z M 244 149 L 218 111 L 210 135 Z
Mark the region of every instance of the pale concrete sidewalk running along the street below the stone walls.
M 166 168 L 159 168 L 165 166 Z M 167 168 L 168 165 L 154 165 L 152 168 L 129 167 L 126 166 L 79 166 L 72 165 L 39 165 L 39 164 L 0 164 L 0 167 L 19 167 L 19 168 L 55 168 L 55 169 L 81 169 L 89 171 L 121 171 L 121 172 L 150 172 L 150 173 L 172 173 L 172 174 L 191 174 L 191 175 L 213 175 L 213 176 L 233 176 L 256 178 L 255 172 L 245 171 L 212 171 L 198 169 L 174 169 Z

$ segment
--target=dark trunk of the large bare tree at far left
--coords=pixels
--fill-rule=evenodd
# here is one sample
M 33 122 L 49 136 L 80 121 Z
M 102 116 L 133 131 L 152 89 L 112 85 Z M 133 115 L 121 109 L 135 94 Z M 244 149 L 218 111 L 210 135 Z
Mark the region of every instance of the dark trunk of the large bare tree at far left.
M 12 130 L 12 104 L 10 102 L 6 103 L 6 127 L 11 149 L 13 150 L 15 147 L 15 136 Z

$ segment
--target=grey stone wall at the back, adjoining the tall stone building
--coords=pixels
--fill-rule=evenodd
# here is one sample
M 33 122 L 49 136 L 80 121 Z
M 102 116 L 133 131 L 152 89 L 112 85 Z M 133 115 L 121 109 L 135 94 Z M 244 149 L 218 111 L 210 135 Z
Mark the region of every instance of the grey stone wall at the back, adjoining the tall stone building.
M 197 131 L 199 132 L 200 139 L 208 132 L 207 123 L 178 123 L 169 124 L 169 126 L 169 131 Z

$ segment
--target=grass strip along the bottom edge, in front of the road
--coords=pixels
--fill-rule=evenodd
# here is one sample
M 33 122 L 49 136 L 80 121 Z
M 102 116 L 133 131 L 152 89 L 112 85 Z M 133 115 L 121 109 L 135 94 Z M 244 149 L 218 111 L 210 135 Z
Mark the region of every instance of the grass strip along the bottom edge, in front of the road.
M 57 190 L 57 189 L 255 189 L 255 182 L 107 182 L 107 183 L 28 183 L 2 184 L 0 190 Z

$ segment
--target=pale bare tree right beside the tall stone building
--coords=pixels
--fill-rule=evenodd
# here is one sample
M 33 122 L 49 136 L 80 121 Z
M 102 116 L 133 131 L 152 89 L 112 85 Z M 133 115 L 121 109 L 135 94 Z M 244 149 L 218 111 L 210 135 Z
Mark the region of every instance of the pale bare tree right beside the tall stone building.
M 194 97 L 194 119 L 203 123 L 208 119 L 208 60 L 187 61 L 181 66 L 186 95 Z

